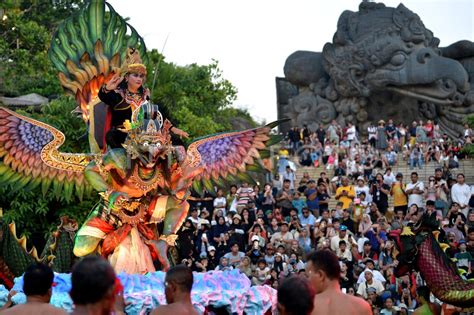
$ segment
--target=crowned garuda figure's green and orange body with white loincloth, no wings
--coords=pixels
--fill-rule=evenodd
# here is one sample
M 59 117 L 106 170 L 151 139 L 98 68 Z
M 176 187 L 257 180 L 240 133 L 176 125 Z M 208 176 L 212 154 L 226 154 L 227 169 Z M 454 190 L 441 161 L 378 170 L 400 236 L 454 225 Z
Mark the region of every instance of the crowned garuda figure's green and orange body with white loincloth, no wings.
M 174 244 L 189 208 L 189 178 L 199 169 L 179 163 L 171 123 L 163 122 L 158 106 L 141 105 L 124 128 L 125 149 L 108 150 L 85 170 L 103 198 L 79 230 L 74 254 L 100 252 L 117 272 L 155 271 L 156 259 L 167 269 L 168 244 Z

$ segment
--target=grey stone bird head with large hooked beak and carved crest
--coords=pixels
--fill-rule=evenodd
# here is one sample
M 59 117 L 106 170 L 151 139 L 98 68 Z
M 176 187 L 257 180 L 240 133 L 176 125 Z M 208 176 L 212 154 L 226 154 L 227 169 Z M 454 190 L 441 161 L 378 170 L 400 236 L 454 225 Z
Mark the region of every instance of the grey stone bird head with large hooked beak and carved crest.
M 433 104 L 460 105 L 468 74 L 456 60 L 440 56 L 439 40 L 403 5 L 361 4 L 346 11 L 333 44 L 323 51 L 325 69 L 344 96 L 391 91 Z

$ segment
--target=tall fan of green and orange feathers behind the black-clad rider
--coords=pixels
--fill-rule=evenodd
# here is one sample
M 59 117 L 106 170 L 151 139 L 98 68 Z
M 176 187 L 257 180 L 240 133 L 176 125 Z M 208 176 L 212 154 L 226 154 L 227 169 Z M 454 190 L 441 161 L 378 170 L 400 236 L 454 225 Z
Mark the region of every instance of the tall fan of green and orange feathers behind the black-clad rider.
M 137 49 L 147 64 L 143 38 L 104 0 L 89 1 L 59 25 L 51 41 L 49 58 L 59 71 L 61 85 L 76 97 L 82 118 L 89 123 L 89 142 L 95 153 L 99 152 L 96 138 L 101 138 L 96 130 L 105 121 L 104 108 L 95 108 L 100 103 L 97 94 L 120 68 L 128 47 Z

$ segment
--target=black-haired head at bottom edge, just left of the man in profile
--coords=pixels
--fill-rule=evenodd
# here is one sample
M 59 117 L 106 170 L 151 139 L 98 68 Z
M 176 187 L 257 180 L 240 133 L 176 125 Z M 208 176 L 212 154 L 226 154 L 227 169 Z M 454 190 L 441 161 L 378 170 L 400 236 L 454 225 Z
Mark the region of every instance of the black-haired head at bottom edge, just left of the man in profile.
M 313 311 L 314 289 L 308 279 L 293 276 L 283 280 L 278 287 L 278 303 L 285 307 L 286 314 L 307 315 Z

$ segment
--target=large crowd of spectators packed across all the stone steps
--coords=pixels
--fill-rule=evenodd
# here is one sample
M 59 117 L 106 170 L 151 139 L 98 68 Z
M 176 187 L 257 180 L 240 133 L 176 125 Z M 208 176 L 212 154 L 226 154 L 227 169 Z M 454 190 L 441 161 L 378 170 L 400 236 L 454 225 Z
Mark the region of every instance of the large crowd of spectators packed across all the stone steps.
M 292 129 L 283 148 L 287 163 L 271 182 L 193 193 L 179 232 L 182 262 L 198 272 L 239 269 L 254 285 L 277 288 L 288 276 L 305 273 L 308 253 L 329 249 L 339 258 L 343 292 L 365 299 L 375 314 L 408 314 L 419 306 L 416 289 L 423 279 L 416 272 L 394 276 L 398 250 L 387 235 L 434 207 L 448 236 L 447 255 L 472 278 L 474 199 L 452 163 L 463 158 L 459 145 L 429 121 L 409 129 L 381 121 L 373 127 L 375 138 L 371 130 L 361 141 L 354 126 L 342 129 L 336 122 L 315 132 Z M 302 139 L 295 142 L 294 135 Z M 463 141 L 470 137 L 467 130 Z M 291 155 L 325 171 L 298 178 Z M 393 173 L 397 163 L 438 167 L 424 182 L 416 170 L 408 179 Z

